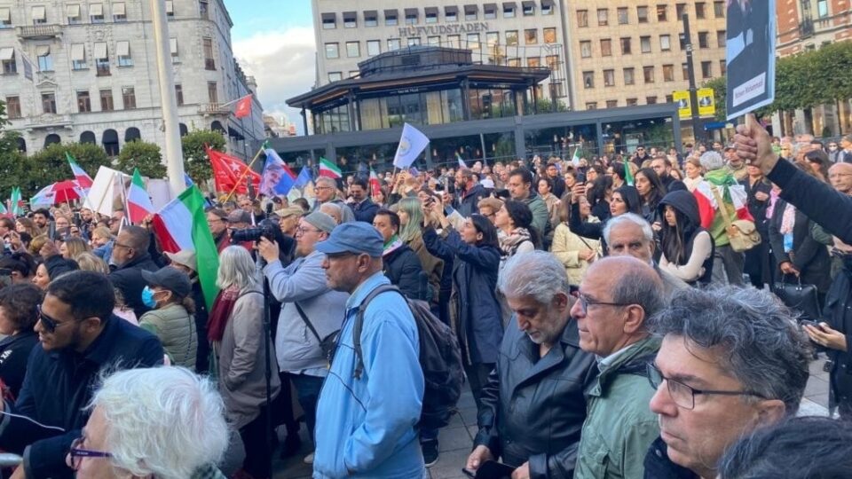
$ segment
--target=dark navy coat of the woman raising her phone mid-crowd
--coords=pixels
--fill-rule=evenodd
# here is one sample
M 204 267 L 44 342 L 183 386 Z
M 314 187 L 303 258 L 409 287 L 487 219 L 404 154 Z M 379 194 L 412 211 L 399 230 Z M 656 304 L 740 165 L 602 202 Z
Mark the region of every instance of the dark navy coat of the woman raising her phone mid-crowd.
M 450 230 L 440 240 L 432 228 L 423 231 L 426 249 L 453 263 L 453 303 L 451 315 L 456 318 L 456 332 L 465 364 L 493 364 L 503 339 L 500 301 L 497 299 L 497 273 L 500 251 L 496 247 L 476 247 L 461 240 Z

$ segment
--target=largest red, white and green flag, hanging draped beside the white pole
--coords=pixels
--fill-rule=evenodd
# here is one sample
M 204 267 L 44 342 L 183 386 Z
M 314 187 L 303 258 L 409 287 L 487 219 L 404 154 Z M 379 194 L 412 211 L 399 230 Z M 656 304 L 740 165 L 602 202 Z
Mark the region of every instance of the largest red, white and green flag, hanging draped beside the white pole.
M 204 197 L 198 186 L 187 188 L 154 215 L 154 234 L 165 252 L 188 250 L 195 253 L 201 292 L 208 310 L 212 310 L 219 293 L 216 286 L 219 255 L 204 216 Z

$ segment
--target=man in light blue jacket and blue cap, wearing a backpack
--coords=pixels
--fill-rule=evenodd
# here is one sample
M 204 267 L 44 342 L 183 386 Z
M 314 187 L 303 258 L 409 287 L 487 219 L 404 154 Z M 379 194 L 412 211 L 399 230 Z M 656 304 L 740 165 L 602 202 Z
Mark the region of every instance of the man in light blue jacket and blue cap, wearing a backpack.
M 377 287 L 383 240 L 363 222 L 337 226 L 317 243 L 328 287 L 351 294 L 334 358 L 317 406 L 315 479 L 423 477 L 415 424 L 420 420 L 423 373 L 417 326 L 401 294 L 375 296 L 364 312 L 356 353 L 359 306 Z M 363 363 L 363 365 L 361 364 Z

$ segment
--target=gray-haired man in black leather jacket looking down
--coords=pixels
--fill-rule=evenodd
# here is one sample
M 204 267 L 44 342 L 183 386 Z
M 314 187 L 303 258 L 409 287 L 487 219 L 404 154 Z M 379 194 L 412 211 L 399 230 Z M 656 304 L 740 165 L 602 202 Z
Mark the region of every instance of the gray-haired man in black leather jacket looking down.
M 497 287 L 513 320 L 482 391 L 466 468 L 473 472 L 501 458 L 516 468 L 512 477 L 571 479 L 586 419 L 583 390 L 596 367 L 580 349 L 565 268 L 543 251 L 514 255 Z

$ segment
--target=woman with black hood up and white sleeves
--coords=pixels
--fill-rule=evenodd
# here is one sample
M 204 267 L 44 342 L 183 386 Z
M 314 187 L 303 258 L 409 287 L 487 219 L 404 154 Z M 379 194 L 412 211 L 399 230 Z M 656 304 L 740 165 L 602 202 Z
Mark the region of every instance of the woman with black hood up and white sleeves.
M 713 238 L 701 227 L 698 201 L 692 193 L 668 193 L 659 202 L 663 218 L 659 269 L 693 286 L 707 286 L 713 273 Z

